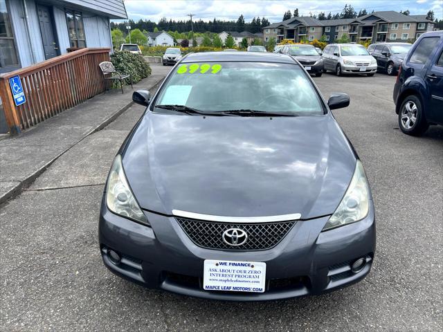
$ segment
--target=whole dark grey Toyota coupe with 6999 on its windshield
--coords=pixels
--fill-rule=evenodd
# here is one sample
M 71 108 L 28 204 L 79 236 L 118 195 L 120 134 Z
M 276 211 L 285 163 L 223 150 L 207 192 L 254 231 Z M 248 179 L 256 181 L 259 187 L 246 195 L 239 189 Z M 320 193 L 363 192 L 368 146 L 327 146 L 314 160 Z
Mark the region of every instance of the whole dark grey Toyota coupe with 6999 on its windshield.
M 304 68 L 275 53 L 197 53 L 174 66 L 111 166 L 100 252 L 112 272 L 209 299 L 325 293 L 375 250 L 359 157 Z

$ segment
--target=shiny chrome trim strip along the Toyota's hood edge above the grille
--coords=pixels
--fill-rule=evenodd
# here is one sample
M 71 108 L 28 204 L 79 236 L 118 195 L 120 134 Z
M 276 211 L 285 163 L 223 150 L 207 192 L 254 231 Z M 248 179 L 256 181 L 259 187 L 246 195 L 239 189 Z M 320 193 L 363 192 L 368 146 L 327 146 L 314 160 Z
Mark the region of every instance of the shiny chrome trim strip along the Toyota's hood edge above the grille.
M 213 216 L 195 212 L 172 210 L 174 216 L 199 219 L 201 221 L 217 221 L 219 223 L 273 223 L 275 221 L 294 221 L 301 218 L 300 213 L 280 214 L 279 216 Z

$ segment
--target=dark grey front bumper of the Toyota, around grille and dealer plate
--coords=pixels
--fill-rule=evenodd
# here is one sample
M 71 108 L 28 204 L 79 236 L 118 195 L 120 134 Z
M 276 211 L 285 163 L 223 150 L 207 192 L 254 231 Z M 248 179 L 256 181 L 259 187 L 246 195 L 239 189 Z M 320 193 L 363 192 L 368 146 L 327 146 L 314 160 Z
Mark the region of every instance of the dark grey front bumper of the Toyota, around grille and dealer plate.
M 354 284 L 370 272 L 375 250 L 374 210 L 362 221 L 320 232 L 329 216 L 298 221 L 277 246 L 261 251 L 210 250 L 196 246 L 172 216 L 146 212 L 152 228 L 110 212 L 102 203 L 100 251 L 116 275 L 148 288 L 233 301 L 264 301 L 326 293 Z M 113 264 L 107 250 L 118 252 Z M 366 264 L 352 273 L 350 264 Z M 204 291 L 205 259 L 266 262 L 266 291 L 238 293 Z

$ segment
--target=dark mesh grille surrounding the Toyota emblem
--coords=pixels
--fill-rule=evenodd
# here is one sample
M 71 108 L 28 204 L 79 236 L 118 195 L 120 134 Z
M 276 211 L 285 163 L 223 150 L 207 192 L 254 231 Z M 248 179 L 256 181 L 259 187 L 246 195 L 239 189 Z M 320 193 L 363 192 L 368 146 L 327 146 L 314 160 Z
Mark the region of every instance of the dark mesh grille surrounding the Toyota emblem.
M 291 230 L 296 221 L 276 223 L 217 223 L 195 219 L 176 218 L 181 228 L 197 246 L 219 250 L 266 250 L 276 246 Z M 223 233 L 238 228 L 248 235 L 241 246 L 230 246 L 223 241 Z

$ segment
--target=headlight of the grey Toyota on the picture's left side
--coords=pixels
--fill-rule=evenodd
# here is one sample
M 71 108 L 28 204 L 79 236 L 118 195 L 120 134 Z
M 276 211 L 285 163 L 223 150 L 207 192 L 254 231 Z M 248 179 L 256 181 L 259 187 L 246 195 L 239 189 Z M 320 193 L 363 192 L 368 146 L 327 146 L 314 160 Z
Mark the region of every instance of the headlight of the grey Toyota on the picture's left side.
M 132 194 L 131 188 L 127 183 L 120 154 L 114 159 L 109 172 L 106 187 L 106 204 L 108 209 L 115 214 L 149 225 L 145 214 L 138 206 L 134 194 Z

